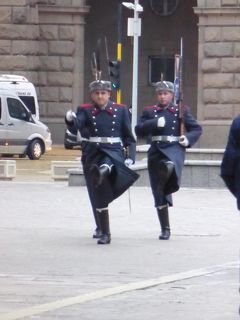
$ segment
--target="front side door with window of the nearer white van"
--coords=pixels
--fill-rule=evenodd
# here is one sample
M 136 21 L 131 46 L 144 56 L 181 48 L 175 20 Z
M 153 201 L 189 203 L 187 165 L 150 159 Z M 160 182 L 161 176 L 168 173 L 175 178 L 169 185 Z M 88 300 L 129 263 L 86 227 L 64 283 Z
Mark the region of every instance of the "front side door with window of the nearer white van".
M 34 122 L 29 121 L 29 111 L 19 99 L 7 97 L 8 121 L 6 139 L 8 152 L 15 154 L 25 153 L 28 137 L 33 132 Z

